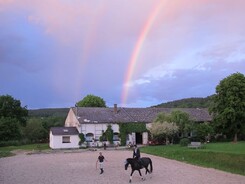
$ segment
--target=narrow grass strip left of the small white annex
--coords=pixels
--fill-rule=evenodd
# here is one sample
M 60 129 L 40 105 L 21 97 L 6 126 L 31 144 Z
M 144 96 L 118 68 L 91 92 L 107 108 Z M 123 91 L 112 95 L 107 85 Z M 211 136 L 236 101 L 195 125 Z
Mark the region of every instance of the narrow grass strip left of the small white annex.
M 6 146 L 6 147 L 0 147 L 0 158 L 1 157 L 8 157 L 13 156 L 14 154 L 11 153 L 11 151 L 14 150 L 47 150 L 49 148 L 49 144 L 28 144 L 28 145 L 22 145 L 22 146 Z

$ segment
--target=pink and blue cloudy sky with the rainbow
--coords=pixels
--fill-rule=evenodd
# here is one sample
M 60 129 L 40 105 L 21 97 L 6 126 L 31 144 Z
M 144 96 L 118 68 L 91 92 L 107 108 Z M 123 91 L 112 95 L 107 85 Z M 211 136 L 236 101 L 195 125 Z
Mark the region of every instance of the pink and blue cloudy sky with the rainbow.
M 0 0 L 0 95 L 28 109 L 207 97 L 245 74 L 244 0 Z

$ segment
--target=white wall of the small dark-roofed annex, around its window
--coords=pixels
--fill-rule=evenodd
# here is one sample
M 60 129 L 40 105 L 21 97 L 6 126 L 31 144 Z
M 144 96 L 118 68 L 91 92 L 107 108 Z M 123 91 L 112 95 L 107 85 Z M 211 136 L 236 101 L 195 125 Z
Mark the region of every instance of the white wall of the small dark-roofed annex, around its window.
M 69 135 L 70 143 L 62 143 L 62 135 L 53 135 L 50 132 L 49 137 L 49 146 L 52 149 L 65 149 L 65 148 L 79 148 L 80 138 L 78 135 Z

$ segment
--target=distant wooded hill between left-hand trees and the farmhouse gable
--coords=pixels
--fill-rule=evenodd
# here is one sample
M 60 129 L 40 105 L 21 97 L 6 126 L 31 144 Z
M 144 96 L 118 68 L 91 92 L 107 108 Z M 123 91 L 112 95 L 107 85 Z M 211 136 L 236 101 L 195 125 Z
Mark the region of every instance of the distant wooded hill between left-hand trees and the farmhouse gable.
M 28 110 L 30 117 L 66 117 L 69 108 L 35 109 Z

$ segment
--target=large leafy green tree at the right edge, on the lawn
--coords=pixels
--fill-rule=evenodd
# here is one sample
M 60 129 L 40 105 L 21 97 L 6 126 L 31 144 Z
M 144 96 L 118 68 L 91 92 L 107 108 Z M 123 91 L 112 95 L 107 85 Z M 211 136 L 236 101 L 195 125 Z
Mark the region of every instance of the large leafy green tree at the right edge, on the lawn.
M 245 76 L 234 73 L 220 81 L 210 112 L 214 117 L 215 127 L 220 131 L 230 132 L 237 142 L 237 135 L 245 126 Z

